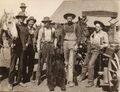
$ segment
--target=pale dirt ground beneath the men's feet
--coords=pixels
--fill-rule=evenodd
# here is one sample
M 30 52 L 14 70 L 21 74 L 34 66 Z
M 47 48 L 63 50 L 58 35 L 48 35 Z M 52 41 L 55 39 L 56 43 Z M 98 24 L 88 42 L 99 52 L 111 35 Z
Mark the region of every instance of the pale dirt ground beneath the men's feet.
M 8 87 L 7 84 L 8 84 L 7 79 L 3 80 L 0 83 L 0 92 L 10 91 L 7 88 Z M 21 87 L 21 86 L 17 85 L 13 88 L 13 91 L 49 92 L 46 84 L 47 84 L 46 80 L 44 80 L 43 83 L 39 86 L 37 86 L 34 83 L 26 83 L 27 87 Z M 85 87 L 86 84 L 87 84 L 87 80 L 79 83 L 79 86 L 74 86 L 74 87 L 71 87 L 71 88 L 66 86 L 66 89 L 67 89 L 66 92 L 106 92 L 106 91 L 103 91 L 102 88 L 98 88 L 98 87 L 95 87 L 95 86 L 93 86 L 91 88 L 86 88 Z M 54 92 L 61 92 L 61 89 L 59 87 L 56 87 Z

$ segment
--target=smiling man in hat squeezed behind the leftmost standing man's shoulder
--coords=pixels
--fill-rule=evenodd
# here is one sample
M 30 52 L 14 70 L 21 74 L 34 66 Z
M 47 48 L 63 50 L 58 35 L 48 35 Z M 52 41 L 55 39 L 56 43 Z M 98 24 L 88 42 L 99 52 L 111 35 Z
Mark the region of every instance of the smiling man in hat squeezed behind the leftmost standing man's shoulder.
M 30 16 L 27 19 L 27 28 L 29 31 L 27 48 L 25 50 L 25 61 L 27 62 L 26 67 L 28 66 L 28 81 L 33 81 L 32 74 L 34 68 L 34 56 L 35 56 L 35 45 L 36 45 L 36 28 L 34 28 L 34 24 L 36 23 L 36 19 L 33 16 Z

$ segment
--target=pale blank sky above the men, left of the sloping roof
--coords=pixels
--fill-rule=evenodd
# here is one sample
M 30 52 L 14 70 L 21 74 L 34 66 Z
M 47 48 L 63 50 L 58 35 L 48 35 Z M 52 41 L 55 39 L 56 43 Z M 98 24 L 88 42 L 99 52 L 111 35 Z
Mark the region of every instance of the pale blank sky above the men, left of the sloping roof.
M 34 16 L 37 23 L 43 17 L 51 16 L 63 0 L 0 0 L 0 17 L 6 12 L 13 12 L 15 15 L 20 11 L 20 4 L 26 3 L 28 15 Z

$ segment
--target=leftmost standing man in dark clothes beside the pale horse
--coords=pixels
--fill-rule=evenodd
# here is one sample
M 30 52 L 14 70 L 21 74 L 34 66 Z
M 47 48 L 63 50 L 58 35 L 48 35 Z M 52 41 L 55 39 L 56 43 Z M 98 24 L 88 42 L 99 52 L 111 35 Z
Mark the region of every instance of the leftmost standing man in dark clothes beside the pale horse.
M 11 63 L 10 63 L 10 70 L 9 70 L 9 85 L 8 88 L 12 89 L 14 84 L 14 73 L 15 73 L 15 66 L 16 62 L 19 58 L 19 69 L 18 69 L 18 77 L 17 77 L 17 83 L 22 83 L 23 79 L 23 51 L 26 48 L 26 38 L 28 37 L 28 30 L 26 25 L 24 24 L 24 20 L 27 18 L 27 16 L 23 12 L 19 12 L 19 14 L 16 16 L 18 23 L 16 24 L 17 32 L 19 34 L 18 38 L 16 38 L 13 42 L 14 45 L 11 47 Z M 25 85 L 22 85 L 25 86 Z

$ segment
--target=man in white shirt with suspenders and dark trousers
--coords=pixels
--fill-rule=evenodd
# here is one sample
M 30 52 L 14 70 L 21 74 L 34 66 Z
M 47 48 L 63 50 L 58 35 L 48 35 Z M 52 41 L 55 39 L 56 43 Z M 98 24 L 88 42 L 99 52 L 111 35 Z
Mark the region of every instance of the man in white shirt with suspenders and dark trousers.
M 46 75 L 47 75 L 47 85 L 50 91 L 54 90 L 54 78 L 52 74 L 52 65 L 54 63 L 54 49 L 56 47 L 55 29 L 51 27 L 51 22 L 49 17 L 44 17 L 42 23 L 44 26 L 39 30 L 37 49 L 39 52 L 38 60 L 38 75 L 37 82 L 38 85 L 41 83 L 41 73 L 43 64 L 46 62 Z

